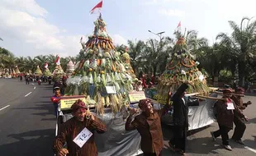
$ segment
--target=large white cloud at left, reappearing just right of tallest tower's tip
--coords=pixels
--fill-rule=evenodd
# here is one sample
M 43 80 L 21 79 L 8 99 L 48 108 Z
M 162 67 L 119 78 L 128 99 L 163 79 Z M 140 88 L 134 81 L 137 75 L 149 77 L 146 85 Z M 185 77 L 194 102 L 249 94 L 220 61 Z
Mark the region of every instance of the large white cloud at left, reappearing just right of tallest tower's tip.
M 17 56 L 59 54 L 60 57 L 79 53 L 81 34 L 65 35 L 67 30 L 50 24 L 48 12 L 34 0 L 2 0 L 0 2 L 1 44 Z M 126 39 L 114 34 L 115 44 L 126 44 Z M 87 41 L 83 36 L 83 40 Z M 1 45 L 1 46 L 2 46 Z

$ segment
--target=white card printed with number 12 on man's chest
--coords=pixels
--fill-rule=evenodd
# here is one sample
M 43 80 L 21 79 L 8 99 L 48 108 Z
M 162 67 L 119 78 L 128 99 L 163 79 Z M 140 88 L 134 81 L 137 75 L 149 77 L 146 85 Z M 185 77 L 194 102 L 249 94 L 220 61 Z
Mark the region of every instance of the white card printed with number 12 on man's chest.
M 92 132 L 89 131 L 86 127 L 84 127 L 83 131 L 81 131 L 74 139 L 73 142 L 78 145 L 80 148 L 90 139 L 92 136 Z

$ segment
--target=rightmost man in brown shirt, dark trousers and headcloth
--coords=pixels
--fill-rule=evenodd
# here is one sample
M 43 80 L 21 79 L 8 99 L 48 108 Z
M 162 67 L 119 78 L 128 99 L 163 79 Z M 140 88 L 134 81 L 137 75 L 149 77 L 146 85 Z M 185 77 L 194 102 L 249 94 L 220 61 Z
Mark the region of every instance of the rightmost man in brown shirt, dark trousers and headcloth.
M 248 117 L 245 117 L 242 110 L 247 107 L 251 102 L 249 101 L 248 103 L 243 103 L 243 100 L 239 94 L 243 95 L 244 94 L 244 89 L 243 88 L 237 88 L 235 89 L 235 94 L 237 95 L 232 95 L 231 99 L 233 99 L 235 103 L 235 111 L 234 111 L 234 123 L 235 123 L 235 131 L 232 136 L 232 139 L 235 140 L 235 142 L 239 143 L 240 145 L 244 145 L 244 142 L 241 140 L 244 131 L 246 129 L 246 126 L 244 124 L 244 121 L 248 122 L 249 119 Z

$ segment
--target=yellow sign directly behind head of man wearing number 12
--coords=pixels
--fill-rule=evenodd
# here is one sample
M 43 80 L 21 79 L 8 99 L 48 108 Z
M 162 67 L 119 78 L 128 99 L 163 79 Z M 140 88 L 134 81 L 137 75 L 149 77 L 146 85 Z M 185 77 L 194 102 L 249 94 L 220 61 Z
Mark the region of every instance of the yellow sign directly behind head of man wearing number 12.
M 81 99 L 84 103 L 86 102 L 84 95 L 62 96 L 60 98 L 60 109 L 61 110 L 70 109 L 73 103 L 75 103 L 78 99 Z

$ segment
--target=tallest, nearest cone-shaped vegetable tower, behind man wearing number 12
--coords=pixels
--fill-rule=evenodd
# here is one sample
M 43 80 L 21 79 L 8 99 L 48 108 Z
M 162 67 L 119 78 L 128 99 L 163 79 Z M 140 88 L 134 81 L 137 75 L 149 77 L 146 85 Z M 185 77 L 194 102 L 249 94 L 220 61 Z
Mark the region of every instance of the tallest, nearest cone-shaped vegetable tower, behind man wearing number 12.
M 132 89 L 132 77 L 126 70 L 121 53 L 116 51 L 107 34 L 106 23 L 99 16 L 94 21 L 94 32 L 86 43 L 81 38 L 81 60 L 75 65 L 73 75 L 67 80 L 65 95 L 86 95 L 98 114 L 104 108 L 120 112 L 127 104 L 128 91 Z

